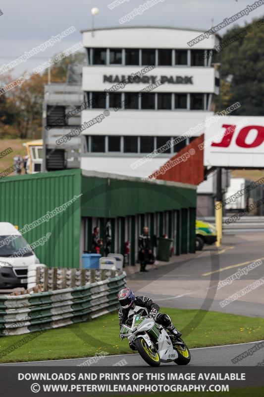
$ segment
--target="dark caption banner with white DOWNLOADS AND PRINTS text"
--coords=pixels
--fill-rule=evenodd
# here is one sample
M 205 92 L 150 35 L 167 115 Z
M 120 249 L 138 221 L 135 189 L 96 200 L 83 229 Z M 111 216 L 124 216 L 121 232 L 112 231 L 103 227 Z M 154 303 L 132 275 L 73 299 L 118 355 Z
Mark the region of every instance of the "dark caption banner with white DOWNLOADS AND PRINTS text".
M 1 366 L 0 395 L 9 396 L 122 396 L 140 393 L 222 392 L 252 388 L 264 396 L 262 367 L 16 367 Z M 249 389 L 250 390 L 250 389 Z M 206 394 L 207 395 L 207 394 Z M 200 394 L 199 394 L 200 396 Z M 234 396 L 237 396 L 235 393 Z

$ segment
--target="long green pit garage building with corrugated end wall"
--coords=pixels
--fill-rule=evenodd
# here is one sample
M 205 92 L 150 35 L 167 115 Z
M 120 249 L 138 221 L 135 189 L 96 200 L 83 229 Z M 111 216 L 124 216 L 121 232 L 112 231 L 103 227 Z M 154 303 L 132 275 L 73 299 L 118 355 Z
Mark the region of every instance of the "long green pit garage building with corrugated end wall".
M 130 243 L 127 265 L 137 262 L 144 225 L 153 244 L 155 236 L 172 240 L 173 255 L 195 252 L 194 185 L 76 169 L 2 178 L 0 197 L 0 220 L 23 229 L 29 244 L 51 233 L 34 250 L 47 266 L 81 267 L 81 255 L 91 250 L 93 228 L 99 226 L 104 241 L 107 220 L 110 252 L 124 255 Z

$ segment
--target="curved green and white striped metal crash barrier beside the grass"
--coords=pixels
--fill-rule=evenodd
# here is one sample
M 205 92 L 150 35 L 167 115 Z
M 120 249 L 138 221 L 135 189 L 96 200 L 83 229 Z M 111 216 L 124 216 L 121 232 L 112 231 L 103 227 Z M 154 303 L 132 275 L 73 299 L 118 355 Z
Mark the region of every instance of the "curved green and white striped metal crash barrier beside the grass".
M 111 278 L 83 287 L 0 296 L 0 336 L 64 327 L 117 310 L 116 295 L 125 286 L 125 275 L 111 271 Z

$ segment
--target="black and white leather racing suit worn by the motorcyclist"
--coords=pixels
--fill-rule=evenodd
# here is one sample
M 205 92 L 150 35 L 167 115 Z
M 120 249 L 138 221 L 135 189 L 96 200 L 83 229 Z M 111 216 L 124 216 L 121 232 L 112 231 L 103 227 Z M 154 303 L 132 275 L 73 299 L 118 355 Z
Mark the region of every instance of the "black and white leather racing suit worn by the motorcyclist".
M 120 307 L 118 312 L 120 328 L 129 317 L 133 316 L 134 312 L 139 315 L 148 316 L 152 309 L 156 309 L 157 312 L 159 311 L 159 306 L 157 303 L 154 303 L 152 299 L 148 298 L 147 296 L 136 296 L 134 308 L 130 307 L 128 309 L 124 309 L 123 307 Z M 171 319 L 167 314 L 158 313 L 155 321 L 167 328 L 169 331 L 174 329 Z

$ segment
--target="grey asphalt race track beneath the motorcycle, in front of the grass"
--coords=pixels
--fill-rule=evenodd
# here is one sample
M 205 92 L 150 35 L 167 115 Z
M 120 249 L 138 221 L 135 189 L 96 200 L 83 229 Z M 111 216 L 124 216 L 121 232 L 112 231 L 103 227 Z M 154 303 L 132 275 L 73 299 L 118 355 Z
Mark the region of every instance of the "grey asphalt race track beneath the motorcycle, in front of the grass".
M 125 343 L 126 341 L 123 341 Z M 263 341 L 264 342 L 264 341 Z M 244 358 L 238 363 L 234 364 L 231 360 L 232 358 L 238 356 L 239 354 L 253 348 L 259 342 L 250 343 L 240 343 L 234 345 L 224 345 L 215 347 L 201 347 L 191 350 L 191 361 L 189 366 L 256 366 L 259 363 L 264 365 L 264 347 L 260 348 L 252 355 Z M 264 345 L 264 343 L 262 343 Z M 98 359 L 98 357 L 97 357 Z M 124 361 L 125 360 L 125 361 Z M 138 353 L 134 354 L 121 354 L 117 356 L 102 356 L 98 359 L 97 363 L 93 363 L 91 357 L 89 358 L 73 358 L 69 360 L 51 360 L 51 361 L 31 361 L 27 363 L 13 363 L 13 364 L 0 364 L 8 366 L 77 366 L 86 363 L 86 366 L 104 366 L 109 367 L 117 363 L 122 366 L 132 366 L 132 367 L 145 367 L 148 366 L 147 363 L 141 358 Z M 163 365 L 175 365 L 172 363 L 161 363 L 160 367 Z

